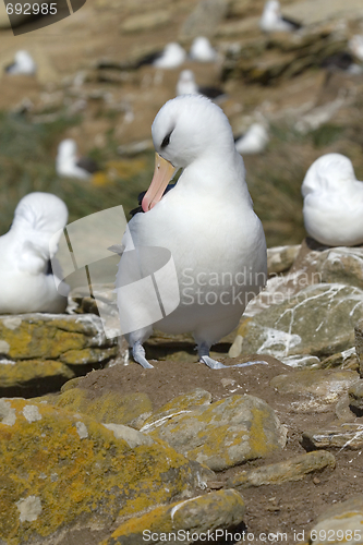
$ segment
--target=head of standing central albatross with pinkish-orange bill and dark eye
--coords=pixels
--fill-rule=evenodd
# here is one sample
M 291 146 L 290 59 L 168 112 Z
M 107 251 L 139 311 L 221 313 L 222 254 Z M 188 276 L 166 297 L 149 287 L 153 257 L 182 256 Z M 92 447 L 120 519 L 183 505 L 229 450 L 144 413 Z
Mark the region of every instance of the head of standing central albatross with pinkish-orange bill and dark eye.
M 235 152 L 227 117 L 201 95 L 169 100 L 156 116 L 152 133 L 156 162 L 152 184 L 142 202 L 144 211 L 160 201 L 176 170 L 208 156 Z

